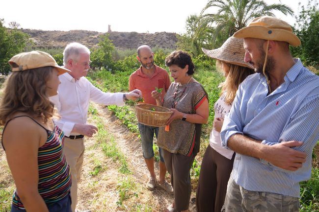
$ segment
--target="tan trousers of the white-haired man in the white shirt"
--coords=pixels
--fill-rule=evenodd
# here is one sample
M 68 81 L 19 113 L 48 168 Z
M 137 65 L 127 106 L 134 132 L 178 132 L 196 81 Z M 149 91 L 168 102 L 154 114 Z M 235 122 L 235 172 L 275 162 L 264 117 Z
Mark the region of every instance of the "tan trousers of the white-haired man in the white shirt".
M 71 209 L 75 212 L 78 203 L 78 182 L 81 179 L 81 171 L 84 155 L 84 138 L 69 139 L 64 138 L 63 152 L 71 170 Z

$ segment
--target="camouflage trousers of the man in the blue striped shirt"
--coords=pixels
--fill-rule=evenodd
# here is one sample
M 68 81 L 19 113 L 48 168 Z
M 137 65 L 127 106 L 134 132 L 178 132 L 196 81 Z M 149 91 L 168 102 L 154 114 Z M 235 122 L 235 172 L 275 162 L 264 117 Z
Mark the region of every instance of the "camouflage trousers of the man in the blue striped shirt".
M 230 178 L 222 212 L 299 212 L 299 198 L 246 190 Z

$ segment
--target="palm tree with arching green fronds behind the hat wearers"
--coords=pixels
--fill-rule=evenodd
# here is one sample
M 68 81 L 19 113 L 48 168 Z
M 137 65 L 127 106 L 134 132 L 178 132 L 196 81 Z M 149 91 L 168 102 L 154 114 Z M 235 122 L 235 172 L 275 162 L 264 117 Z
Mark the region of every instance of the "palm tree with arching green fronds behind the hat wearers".
M 216 12 L 210 13 L 211 10 Z M 247 26 L 251 20 L 264 15 L 274 16 L 274 11 L 285 15 L 293 14 L 292 9 L 285 4 L 268 5 L 264 0 L 209 0 L 199 17 L 187 18 L 187 32 L 180 41 L 185 45 L 186 42 L 192 44 L 191 51 L 198 55 L 201 47 L 220 47 L 227 38 Z M 183 48 L 181 42 L 179 47 Z

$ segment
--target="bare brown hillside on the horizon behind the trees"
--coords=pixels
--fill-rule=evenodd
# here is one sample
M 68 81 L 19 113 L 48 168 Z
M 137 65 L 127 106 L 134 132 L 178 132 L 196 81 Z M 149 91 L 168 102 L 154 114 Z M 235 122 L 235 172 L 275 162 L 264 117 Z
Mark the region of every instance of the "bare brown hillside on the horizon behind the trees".
M 79 42 L 89 48 L 99 43 L 101 32 L 86 30 L 44 31 L 37 29 L 21 29 L 29 34 L 36 47 L 59 48 L 68 43 Z M 137 48 L 146 44 L 151 47 L 176 48 L 177 34 L 169 32 L 137 33 L 137 32 L 109 32 L 109 39 L 115 47 Z

